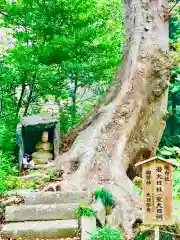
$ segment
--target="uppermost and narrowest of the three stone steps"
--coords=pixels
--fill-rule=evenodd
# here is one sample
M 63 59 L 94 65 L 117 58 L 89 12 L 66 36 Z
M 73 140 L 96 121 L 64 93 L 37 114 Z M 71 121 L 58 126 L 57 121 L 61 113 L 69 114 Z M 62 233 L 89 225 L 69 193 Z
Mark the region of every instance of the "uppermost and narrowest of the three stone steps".
M 26 205 L 84 203 L 88 204 L 87 192 L 32 192 L 25 197 Z

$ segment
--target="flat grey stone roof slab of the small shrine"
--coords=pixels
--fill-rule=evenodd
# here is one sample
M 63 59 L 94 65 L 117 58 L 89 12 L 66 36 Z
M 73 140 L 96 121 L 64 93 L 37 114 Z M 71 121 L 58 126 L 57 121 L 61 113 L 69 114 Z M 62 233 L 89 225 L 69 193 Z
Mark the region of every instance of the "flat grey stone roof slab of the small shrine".
M 49 123 L 57 123 L 59 120 L 56 117 L 52 117 L 47 113 L 32 115 L 28 117 L 23 117 L 21 119 L 20 124 L 24 127 L 40 125 L 40 124 L 49 124 Z

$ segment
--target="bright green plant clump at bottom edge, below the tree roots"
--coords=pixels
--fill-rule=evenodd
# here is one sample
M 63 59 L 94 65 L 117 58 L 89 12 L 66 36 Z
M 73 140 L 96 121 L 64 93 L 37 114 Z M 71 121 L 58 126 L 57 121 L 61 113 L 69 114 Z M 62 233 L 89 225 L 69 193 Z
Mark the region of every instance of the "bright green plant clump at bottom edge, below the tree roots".
M 121 232 L 118 229 L 99 228 L 89 240 L 120 240 Z

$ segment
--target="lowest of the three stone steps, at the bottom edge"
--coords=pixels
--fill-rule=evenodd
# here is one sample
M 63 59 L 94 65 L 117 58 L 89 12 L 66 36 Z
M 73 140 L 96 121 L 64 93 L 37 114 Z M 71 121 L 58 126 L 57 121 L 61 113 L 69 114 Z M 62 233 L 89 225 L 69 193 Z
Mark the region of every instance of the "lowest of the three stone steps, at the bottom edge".
M 58 239 L 61 237 L 76 237 L 77 220 L 56 220 L 37 222 L 8 223 L 2 229 L 2 239 Z

